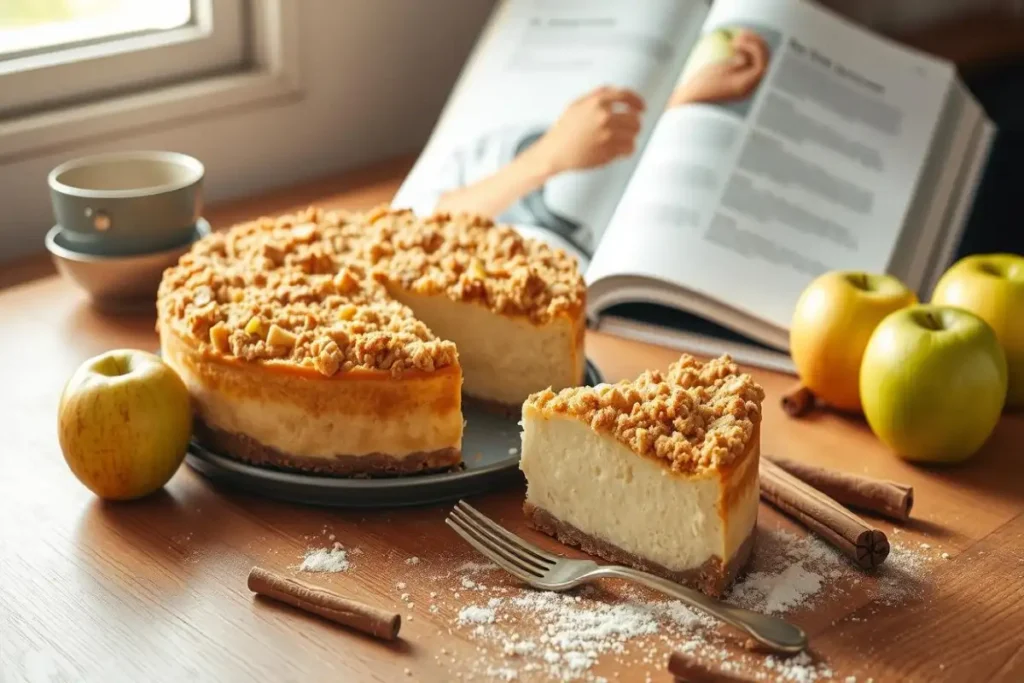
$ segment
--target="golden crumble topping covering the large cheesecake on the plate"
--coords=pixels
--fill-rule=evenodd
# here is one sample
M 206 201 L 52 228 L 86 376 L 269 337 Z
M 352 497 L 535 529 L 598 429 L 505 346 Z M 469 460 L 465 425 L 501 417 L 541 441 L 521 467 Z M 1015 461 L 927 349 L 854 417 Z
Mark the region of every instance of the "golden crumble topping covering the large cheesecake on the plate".
M 204 238 L 165 271 L 158 307 L 161 321 L 210 351 L 326 377 L 455 365 L 455 344 L 388 286 L 477 300 L 538 324 L 581 310 L 585 292 L 571 257 L 487 220 L 310 208 Z

